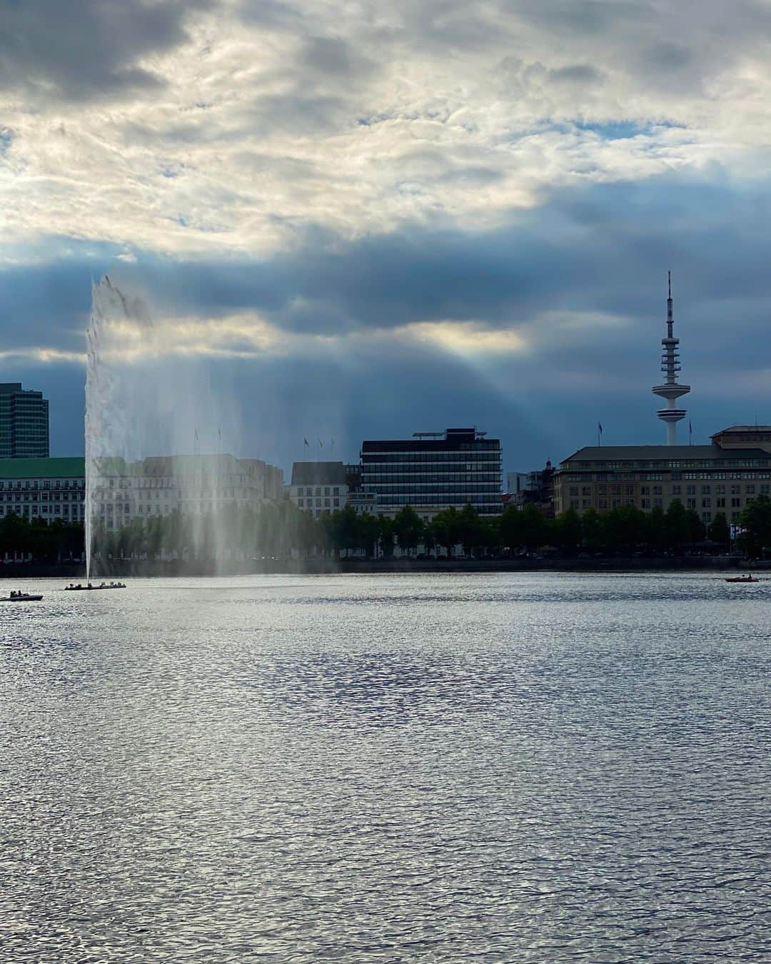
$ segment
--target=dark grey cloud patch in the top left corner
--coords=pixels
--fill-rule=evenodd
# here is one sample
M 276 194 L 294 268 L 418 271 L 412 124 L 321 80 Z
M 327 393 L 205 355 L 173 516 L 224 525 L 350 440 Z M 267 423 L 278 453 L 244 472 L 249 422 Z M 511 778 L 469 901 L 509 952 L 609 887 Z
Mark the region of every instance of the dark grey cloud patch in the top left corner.
M 84 100 L 160 85 L 139 61 L 186 39 L 202 0 L 0 0 L 0 89 Z

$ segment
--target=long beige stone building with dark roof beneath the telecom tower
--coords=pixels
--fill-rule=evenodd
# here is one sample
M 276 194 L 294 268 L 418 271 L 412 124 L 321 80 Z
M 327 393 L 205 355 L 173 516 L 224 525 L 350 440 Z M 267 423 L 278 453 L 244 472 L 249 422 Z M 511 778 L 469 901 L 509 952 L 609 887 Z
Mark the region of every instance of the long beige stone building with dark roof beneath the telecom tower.
M 771 425 L 734 425 L 711 445 L 579 448 L 554 474 L 554 512 L 607 512 L 634 505 L 665 512 L 679 499 L 703 522 L 735 522 L 758 495 L 771 496 Z

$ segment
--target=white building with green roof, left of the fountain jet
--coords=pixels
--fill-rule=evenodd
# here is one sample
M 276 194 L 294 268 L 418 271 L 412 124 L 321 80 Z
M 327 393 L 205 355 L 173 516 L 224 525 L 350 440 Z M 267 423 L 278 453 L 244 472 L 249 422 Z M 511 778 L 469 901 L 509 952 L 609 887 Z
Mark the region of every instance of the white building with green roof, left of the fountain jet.
M 0 459 L 0 517 L 83 522 L 85 462 L 68 459 Z

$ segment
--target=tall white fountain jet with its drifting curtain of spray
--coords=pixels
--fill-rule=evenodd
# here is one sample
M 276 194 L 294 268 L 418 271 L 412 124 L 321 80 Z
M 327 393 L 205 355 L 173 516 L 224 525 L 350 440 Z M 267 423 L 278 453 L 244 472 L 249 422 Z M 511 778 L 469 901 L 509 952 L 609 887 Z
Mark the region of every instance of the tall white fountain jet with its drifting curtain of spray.
M 210 560 L 243 547 L 244 506 L 264 463 L 237 461 L 240 419 L 184 318 L 158 314 L 131 284 L 107 277 L 93 288 L 86 377 L 86 569 L 142 539 L 157 554 Z M 261 467 L 261 468 L 260 468 Z

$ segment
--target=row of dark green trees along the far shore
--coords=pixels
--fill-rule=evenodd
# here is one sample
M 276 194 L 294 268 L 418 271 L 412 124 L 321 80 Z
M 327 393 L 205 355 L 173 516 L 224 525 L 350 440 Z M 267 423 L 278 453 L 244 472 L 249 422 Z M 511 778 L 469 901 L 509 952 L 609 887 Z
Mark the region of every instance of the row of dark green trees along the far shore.
M 731 549 L 749 558 L 771 549 L 771 499 L 760 495 L 741 513 L 736 537 L 719 514 L 705 526 L 677 500 L 666 512 L 623 506 L 608 512 L 574 510 L 551 519 L 536 505 L 507 507 L 500 516 L 480 517 L 472 506 L 444 509 L 425 522 L 405 506 L 390 519 L 348 507 L 313 519 L 292 502 L 254 511 L 225 506 L 216 514 L 134 519 L 117 530 L 94 527 L 95 560 L 266 560 L 359 556 L 390 559 L 394 553 L 426 558 L 506 558 L 548 552 L 660 555 Z M 49 565 L 81 559 L 80 523 L 27 521 L 12 514 L 0 520 L 0 557 Z

